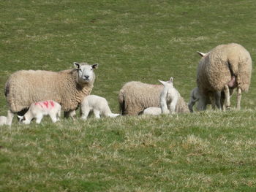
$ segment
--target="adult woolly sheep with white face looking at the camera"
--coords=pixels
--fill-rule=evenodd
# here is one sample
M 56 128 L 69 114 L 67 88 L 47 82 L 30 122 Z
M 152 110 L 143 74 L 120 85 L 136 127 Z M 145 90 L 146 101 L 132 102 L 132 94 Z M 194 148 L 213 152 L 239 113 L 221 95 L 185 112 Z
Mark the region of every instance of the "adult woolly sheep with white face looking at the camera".
M 75 69 L 60 72 L 21 70 L 10 75 L 5 84 L 9 105 L 7 125 L 12 124 L 15 113 L 24 114 L 37 101 L 53 100 L 61 104 L 64 116 L 75 115 L 75 110 L 94 87 L 98 64 L 74 62 Z

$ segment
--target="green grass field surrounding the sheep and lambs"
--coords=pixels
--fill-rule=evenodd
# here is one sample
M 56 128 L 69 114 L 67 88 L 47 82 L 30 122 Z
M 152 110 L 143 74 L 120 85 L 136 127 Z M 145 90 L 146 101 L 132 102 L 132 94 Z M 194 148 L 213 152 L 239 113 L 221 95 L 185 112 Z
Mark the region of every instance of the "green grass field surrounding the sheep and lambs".
M 20 69 L 98 63 L 92 93 L 118 112 L 130 80 L 172 76 L 189 101 L 197 50 L 236 42 L 253 61 L 239 112 L 1 126 L 0 191 L 255 191 L 255 9 L 249 0 L 0 1 L 0 115 L 4 83 Z

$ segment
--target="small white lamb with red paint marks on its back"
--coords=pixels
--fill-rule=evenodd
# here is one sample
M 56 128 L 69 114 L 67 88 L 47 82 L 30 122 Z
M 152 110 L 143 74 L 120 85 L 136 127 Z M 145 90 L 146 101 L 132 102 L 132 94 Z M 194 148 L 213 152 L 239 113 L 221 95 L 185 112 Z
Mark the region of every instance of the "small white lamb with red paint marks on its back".
M 61 117 L 61 105 L 56 101 L 39 101 L 30 105 L 29 110 L 25 115 L 20 116 L 20 123 L 30 124 L 33 118 L 36 118 L 36 123 L 40 123 L 44 115 L 49 115 L 53 123 Z

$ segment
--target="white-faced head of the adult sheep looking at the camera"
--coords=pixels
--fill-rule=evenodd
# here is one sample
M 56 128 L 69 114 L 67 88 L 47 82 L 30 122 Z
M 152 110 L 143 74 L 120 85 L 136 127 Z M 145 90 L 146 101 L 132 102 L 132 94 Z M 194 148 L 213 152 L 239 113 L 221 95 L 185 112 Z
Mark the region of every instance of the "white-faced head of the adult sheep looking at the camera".
M 78 71 L 78 83 L 90 83 L 94 82 L 95 74 L 94 69 L 98 68 L 99 64 L 89 65 L 86 63 L 78 64 L 74 62 L 75 69 Z

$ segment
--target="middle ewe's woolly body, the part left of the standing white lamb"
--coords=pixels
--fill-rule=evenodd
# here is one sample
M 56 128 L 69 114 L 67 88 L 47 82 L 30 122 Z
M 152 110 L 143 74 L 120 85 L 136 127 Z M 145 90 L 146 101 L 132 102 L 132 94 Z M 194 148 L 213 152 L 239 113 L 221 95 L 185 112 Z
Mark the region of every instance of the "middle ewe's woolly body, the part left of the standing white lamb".
M 140 115 L 148 107 L 160 107 L 159 98 L 162 88 L 162 85 L 127 82 L 118 95 L 121 115 Z

